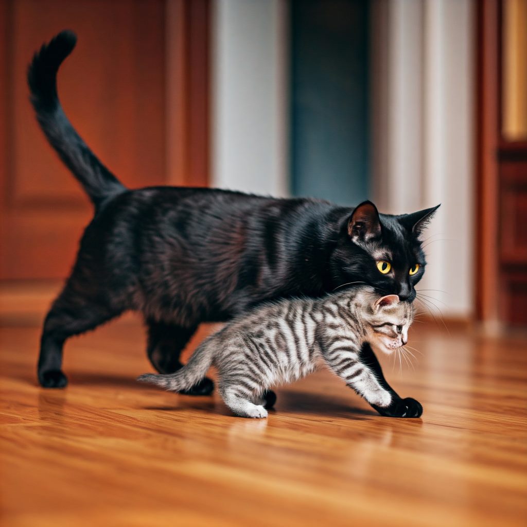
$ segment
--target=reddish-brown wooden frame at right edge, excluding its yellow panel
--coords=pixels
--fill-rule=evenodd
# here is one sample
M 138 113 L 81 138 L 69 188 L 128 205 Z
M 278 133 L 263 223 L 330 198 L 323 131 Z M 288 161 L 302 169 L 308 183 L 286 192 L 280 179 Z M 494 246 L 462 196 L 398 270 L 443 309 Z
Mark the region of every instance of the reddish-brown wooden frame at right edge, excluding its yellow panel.
M 502 136 L 503 2 L 476 6 L 476 315 L 525 325 L 527 248 L 519 233 L 526 214 L 527 141 Z

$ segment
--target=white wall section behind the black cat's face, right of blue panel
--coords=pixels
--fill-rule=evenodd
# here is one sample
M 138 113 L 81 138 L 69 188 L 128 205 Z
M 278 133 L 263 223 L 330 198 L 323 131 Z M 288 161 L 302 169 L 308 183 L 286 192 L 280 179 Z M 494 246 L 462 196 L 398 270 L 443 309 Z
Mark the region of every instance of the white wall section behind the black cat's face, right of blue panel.
M 375 199 L 389 213 L 442 203 L 426 237 L 417 289 L 446 316 L 474 304 L 473 44 L 471 0 L 374 2 Z M 378 29 L 379 21 L 385 26 Z M 436 289 L 440 291 L 425 291 Z M 443 302 L 443 303 L 442 303 Z

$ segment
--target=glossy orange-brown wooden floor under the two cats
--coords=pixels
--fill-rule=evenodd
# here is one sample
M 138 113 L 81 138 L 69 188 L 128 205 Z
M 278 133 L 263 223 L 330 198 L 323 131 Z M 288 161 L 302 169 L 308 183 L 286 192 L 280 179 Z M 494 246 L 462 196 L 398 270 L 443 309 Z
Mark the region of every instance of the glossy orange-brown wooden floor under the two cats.
M 70 386 L 41 389 L 39 329 L 4 320 L 2 527 L 526 524 L 519 337 L 415 324 L 415 370 L 384 364 L 422 419 L 380 417 L 319 372 L 278 388 L 276 411 L 250 420 L 217 396 L 136 383 L 151 368 L 130 318 L 70 341 Z

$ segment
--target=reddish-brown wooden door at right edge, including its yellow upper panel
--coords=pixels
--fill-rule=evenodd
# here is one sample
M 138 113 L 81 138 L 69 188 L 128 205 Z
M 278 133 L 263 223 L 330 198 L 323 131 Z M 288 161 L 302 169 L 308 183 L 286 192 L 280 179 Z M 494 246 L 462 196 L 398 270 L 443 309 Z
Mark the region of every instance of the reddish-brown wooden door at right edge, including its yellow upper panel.
M 477 314 L 527 326 L 527 0 L 477 15 Z

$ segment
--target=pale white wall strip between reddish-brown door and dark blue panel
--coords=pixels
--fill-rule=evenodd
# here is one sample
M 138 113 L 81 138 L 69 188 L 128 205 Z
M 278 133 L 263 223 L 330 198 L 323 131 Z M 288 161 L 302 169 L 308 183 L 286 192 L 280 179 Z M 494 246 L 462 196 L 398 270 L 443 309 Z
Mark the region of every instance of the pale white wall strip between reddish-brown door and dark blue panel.
M 285 0 L 212 5 L 213 186 L 286 196 Z

